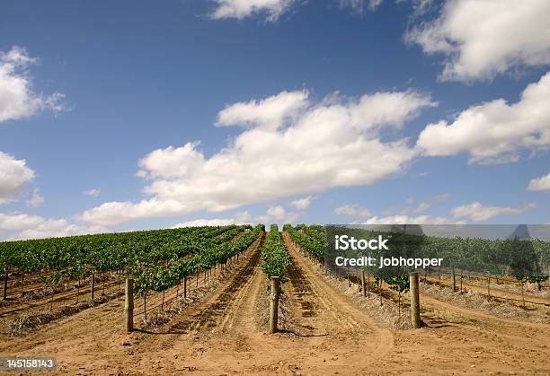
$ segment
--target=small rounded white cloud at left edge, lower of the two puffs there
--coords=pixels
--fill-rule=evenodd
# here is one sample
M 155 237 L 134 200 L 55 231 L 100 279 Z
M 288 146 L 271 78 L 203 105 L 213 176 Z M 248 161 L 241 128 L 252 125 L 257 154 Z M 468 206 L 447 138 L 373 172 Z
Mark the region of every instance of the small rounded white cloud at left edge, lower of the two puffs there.
M 33 178 L 34 171 L 27 167 L 27 162 L 0 152 L 0 204 L 19 197 Z

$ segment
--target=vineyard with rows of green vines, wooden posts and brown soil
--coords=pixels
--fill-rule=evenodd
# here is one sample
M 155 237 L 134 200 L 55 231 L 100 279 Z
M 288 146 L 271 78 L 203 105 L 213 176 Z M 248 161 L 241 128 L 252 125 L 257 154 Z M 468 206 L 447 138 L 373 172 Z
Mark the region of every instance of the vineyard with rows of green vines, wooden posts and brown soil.
M 0 356 L 56 356 L 58 372 L 84 374 L 545 374 L 550 366 L 544 241 L 525 258 L 539 267 L 519 273 L 526 268 L 506 264 L 507 243 L 472 239 L 461 249 L 407 238 L 446 259 L 417 270 L 412 286 L 414 270 L 332 265 L 330 228 L 269 230 L 0 243 Z

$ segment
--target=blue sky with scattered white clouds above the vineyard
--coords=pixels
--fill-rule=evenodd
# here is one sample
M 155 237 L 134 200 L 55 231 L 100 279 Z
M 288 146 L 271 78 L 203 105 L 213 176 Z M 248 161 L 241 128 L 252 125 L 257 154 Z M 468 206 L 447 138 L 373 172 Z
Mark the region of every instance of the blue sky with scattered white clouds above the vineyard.
M 4 1 L 0 238 L 548 223 L 550 9 L 503 3 Z

